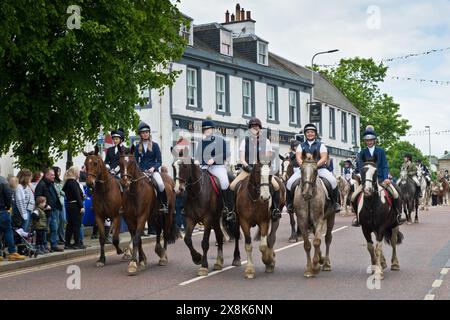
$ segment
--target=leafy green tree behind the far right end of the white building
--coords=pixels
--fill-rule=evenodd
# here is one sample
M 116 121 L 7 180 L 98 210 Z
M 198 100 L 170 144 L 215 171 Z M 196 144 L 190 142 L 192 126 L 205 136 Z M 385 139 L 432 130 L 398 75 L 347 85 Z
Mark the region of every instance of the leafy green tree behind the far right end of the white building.
M 379 83 L 386 77 L 387 67 L 372 59 L 342 59 L 339 66 L 319 71 L 327 77 L 361 113 L 361 137 L 367 125 L 375 127 L 379 143 L 389 148 L 411 126 L 398 113 L 400 105 L 381 93 Z

